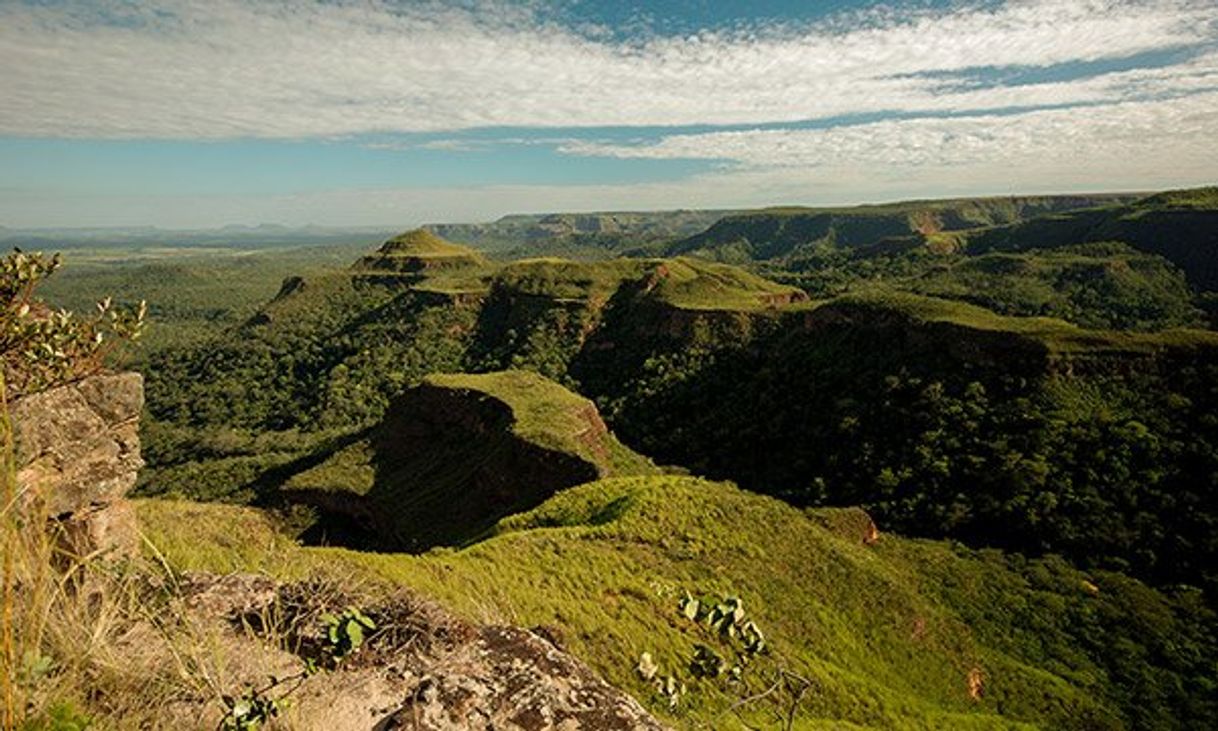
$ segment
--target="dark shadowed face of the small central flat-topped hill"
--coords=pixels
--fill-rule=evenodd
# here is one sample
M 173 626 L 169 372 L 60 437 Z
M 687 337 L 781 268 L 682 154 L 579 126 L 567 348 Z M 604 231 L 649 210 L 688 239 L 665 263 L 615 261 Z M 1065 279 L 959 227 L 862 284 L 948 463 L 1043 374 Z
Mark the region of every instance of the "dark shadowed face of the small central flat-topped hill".
M 466 546 L 503 518 L 599 476 L 591 462 L 514 434 L 513 414 L 501 401 L 428 386 L 409 391 L 378 426 L 284 474 L 333 470 L 336 485 L 352 469 L 340 452 L 359 447 L 357 441 L 370 453 L 361 461 L 373 470 L 365 492 L 336 486 L 278 493 L 280 507 L 309 513 L 297 536 L 306 545 L 409 553 Z

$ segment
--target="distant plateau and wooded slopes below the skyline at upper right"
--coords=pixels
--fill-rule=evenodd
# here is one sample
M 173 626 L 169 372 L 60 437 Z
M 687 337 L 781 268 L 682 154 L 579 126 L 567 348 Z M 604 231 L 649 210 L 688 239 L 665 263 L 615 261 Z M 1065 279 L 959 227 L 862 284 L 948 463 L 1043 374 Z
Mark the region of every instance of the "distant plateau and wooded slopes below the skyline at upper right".
M 1205 327 L 1212 200 L 1201 189 L 773 208 L 725 217 L 666 251 L 760 266 L 812 297 L 883 281 L 1093 328 Z

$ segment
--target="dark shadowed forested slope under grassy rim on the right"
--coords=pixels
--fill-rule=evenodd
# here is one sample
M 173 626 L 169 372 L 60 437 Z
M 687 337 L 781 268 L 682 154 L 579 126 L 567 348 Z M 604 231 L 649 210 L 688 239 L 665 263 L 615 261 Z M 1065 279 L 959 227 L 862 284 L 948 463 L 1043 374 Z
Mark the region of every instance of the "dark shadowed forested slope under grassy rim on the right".
M 1212 333 L 875 291 L 653 353 L 605 406 L 635 448 L 798 504 L 1213 587 L 1216 363 Z

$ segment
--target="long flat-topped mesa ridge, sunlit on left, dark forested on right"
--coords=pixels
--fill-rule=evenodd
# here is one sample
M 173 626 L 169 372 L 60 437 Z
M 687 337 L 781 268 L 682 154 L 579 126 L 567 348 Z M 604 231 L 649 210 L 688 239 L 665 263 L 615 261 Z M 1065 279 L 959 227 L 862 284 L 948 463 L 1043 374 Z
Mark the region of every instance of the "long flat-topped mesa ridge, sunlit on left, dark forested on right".
M 1130 298 L 1147 279 L 1127 269 L 1162 272 L 1121 247 L 973 263 L 1097 268 Z M 976 275 L 959 267 L 917 280 L 934 291 Z M 428 374 L 512 368 L 593 398 L 642 453 L 799 504 L 861 503 L 914 534 L 1216 581 L 1212 334 L 1088 330 L 876 284 L 810 302 L 692 258 L 475 270 L 485 289 L 464 292 L 434 284 L 446 270 L 303 279 L 224 337 L 157 361 L 143 490 L 267 500 Z M 1094 291 L 1050 301 L 1089 312 Z M 341 453 L 350 474 L 371 474 L 371 452 Z

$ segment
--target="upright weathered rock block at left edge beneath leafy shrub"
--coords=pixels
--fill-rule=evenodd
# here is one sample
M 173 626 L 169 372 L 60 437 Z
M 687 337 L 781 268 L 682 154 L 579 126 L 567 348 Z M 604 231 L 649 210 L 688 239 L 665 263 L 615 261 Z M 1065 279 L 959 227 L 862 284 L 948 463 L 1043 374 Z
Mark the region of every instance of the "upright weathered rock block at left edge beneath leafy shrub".
M 134 549 L 135 514 L 124 500 L 140 458 L 144 379 L 95 375 L 12 404 L 21 509 L 58 521 L 79 553 Z

